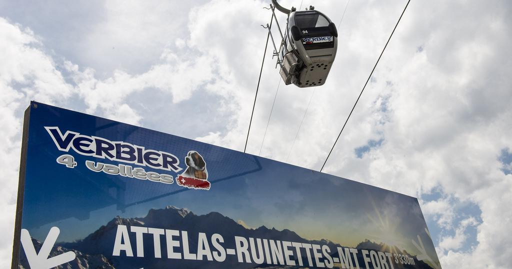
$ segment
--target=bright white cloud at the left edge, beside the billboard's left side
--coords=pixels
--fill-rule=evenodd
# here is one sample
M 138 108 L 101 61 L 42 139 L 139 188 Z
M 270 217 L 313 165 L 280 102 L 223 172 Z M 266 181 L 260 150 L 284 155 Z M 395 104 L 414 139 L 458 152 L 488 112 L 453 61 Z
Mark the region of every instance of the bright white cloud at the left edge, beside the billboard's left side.
M 31 99 L 62 104 L 73 87 L 55 69 L 52 58 L 38 49 L 40 45 L 29 29 L 0 17 L 0 266 L 10 266 L 17 178 L 21 146 L 23 111 Z

